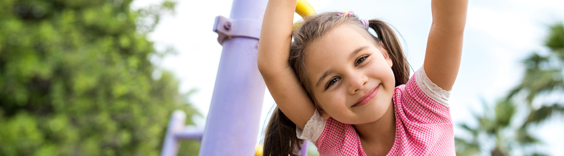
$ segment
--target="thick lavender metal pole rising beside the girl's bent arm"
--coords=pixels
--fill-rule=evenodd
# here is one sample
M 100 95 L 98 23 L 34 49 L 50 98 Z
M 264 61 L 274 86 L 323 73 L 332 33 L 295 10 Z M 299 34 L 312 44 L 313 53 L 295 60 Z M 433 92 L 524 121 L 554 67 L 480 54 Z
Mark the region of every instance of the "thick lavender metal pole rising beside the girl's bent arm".
M 266 0 L 235 0 L 232 20 L 260 27 Z M 231 27 L 232 26 L 232 27 Z M 236 29 L 229 24 L 226 28 Z M 260 29 L 253 29 L 260 33 Z M 258 39 L 233 37 L 223 51 L 199 155 L 254 155 L 265 82 L 257 67 Z

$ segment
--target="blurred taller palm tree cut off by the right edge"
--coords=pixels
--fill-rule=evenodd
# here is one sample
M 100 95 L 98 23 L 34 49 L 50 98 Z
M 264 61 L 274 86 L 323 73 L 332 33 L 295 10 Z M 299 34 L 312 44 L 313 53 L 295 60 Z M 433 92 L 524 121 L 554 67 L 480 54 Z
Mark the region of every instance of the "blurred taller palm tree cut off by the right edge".
M 564 114 L 564 25 L 550 26 L 550 35 L 545 42 L 550 49 L 548 54 L 531 54 L 525 64 L 525 76 L 521 84 L 511 90 L 506 97 L 508 100 L 520 101 L 519 104 L 529 109 L 528 117 L 521 129 L 536 125 L 551 117 L 553 114 Z M 540 101 L 540 108 L 532 107 L 535 99 L 550 98 L 557 95 L 555 100 Z M 526 138 L 522 138 L 526 139 Z

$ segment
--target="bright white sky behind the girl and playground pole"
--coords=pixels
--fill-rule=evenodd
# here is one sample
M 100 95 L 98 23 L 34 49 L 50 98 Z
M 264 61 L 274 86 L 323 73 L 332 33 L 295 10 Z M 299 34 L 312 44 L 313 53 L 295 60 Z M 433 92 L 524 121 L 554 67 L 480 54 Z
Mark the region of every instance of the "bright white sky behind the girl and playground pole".
M 159 3 L 161 0 L 141 0 L 133 8 Z M 354 11 L 364 19 L 382 19 L 395 26 L 407 44 L 407 57 L 415 70 L 422 65 L 427 36 L 431 25 L 430 1 L 320 1 L 310 0 L 318 11 Z M 190 97 L 204 114 L 196 118 L 203 127 L 208 114 L 215 76 L 222 47 L 212 31 L 215 16 L 229 17 L 230 0 L 179 1 L 175 15 L 161 19 L 150 35 L 157 48 L 173 47 L 178 54 L 158 66 L 173 71 L 180 80 L 180 90 L 197 89 Z M 294 20 L 299 20 L 295 16 Z M 481 109 L 481 99 L 493 103 L 517 84 L 523 67 L 519 63 L 533 51 L 547 51 L 543 41 L 547 25 L 564 21 L 564 1 L 550 0 L 471 0 L 464 34 L 464 49 L 456 83 L 450 98 L 451 114 L 456 123 L 468 122 L 469 110 Z M 261 130 L 274 100 L 265 93 L 261 114 Z M 545 141 L 544 151 L 564 155 L 564 124 L 549 122 L 533 134 Z M 457 127 L 457 126 L 455 126 Z M 460 134 L 455 128 L 455 134 Z M 516 154 L 522 155 L 522 154 Z

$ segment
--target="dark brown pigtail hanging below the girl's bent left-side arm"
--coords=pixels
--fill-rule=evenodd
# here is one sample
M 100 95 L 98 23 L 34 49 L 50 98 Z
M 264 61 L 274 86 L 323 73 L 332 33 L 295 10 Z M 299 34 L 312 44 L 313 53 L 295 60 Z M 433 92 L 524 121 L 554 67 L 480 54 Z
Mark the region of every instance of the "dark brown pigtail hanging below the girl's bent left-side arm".
M 297 155 L 303 140 L 296 136 L 296 124 L 276 107 L 266 127 L 265 145 L 262 155 Z

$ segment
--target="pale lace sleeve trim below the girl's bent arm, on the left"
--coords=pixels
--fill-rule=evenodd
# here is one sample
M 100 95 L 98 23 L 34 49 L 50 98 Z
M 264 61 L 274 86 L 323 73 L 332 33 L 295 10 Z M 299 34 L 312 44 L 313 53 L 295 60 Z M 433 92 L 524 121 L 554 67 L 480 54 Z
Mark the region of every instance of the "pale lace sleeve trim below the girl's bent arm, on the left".
M 310 140 L 311 143 L 315 143 L 315 141 L 319 139 L 319 136 L 321 136 L 323 129 L 325 129 L 325 123 L 327 123 L 327 120 L 321 117 L 319 111 L 315 109 L 314 115 L 307 121 L 306 126 L 303 127 L 303 131 L 296 126 L 296 136 L 299 139 Z

